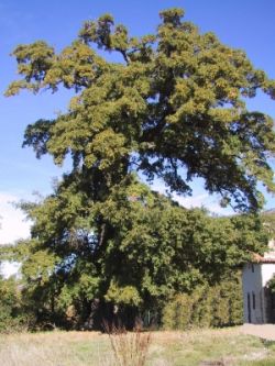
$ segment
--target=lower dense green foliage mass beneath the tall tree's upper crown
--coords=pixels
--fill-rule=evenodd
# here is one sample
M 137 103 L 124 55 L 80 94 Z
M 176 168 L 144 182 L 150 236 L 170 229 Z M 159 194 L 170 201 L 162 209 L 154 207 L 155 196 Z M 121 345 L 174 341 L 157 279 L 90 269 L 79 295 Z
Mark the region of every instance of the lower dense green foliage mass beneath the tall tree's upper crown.
M 186 210 L 135 177 L 128 186 L 114 186 L 105 204 L 79 211 L 78 191 L 67 200 L 64 185 L 29 206 L 36 239 L 11 247 L 10 255 L 22 263 L 23 297 L 35 309 L 37 323 L 80 328 L 89 317 L 109 317 L 114 309 L 122 319 L 130 309 L 141 315 L 147 310 L 160 313 L 167 299 L 196 288 L 201 292 L 195 292 L 198 303 L 206 291 L 222 298 L 219 291 L 226 297 L 227 282 L 222 290 L 215 284 L 224 271 L 240 267 L 251 252 L 265 249 L 267 237 L 258 218 L 211 218 L 199 209 Z M 99 232 L 89 226 L 95 215 L 101 219 Z M 52 220 L 55 217 L 58 220 Z M 209 301 L 213 309 L 216 302 Z M 232 322 L 222 313 L 230 301 L 231 311 L 239 307 L 227 298 L 215 310 L 218 318 L 211 325 Z M 199 313 L 205 310 L 196 310 L 196 324 L 204 324 L 206 318 Z

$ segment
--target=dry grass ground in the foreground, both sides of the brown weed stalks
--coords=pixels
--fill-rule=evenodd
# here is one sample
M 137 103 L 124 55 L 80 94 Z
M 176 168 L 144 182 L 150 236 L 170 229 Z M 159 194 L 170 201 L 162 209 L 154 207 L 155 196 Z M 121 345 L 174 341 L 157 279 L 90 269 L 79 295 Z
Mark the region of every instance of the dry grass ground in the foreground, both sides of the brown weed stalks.
M 132 336 L 129 334 L 129 336 Z M 146 366 L 274 366 L 275 343 L 235 329 L 153 332 Z M 113 366 L 108 334 L 52 332 L 0 335 L 1 366 Z

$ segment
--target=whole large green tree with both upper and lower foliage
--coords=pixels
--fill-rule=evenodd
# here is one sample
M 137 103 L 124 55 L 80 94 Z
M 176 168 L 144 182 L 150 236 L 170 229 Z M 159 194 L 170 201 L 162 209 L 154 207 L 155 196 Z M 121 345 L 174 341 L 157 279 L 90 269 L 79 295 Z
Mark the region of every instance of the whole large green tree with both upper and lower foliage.
M 24 146 L 37 157 L 73 159 L 53 195 L 24 204 L 32 239 L 16 256 L 25 293 L 44 313 L 74 306 L 84 320 L 98 301 L 150 307 L 213 281 L 248 251 L 263 248 L 257 221 L 213 221 L 139 182 L 139 174 L 157 177 L 189 195 L 189 181 L 201 177 L 209 192 L 244 212 L 261 208 L 257 181 L 275 190 L 273 121 L 245 108 L 258 89 L 274 98 L 274 81 L 183 14 L 163 11 L 156 34 L 141 38 L 107 14 L 86 22 L 58 54 L 45 42 L 13 52 L 22 78 L 8 96 L 61 86 L 76 92 L 66 113 L 25 131 Z M 94 45 L 118 52 L 121 62 L 105 59 Z

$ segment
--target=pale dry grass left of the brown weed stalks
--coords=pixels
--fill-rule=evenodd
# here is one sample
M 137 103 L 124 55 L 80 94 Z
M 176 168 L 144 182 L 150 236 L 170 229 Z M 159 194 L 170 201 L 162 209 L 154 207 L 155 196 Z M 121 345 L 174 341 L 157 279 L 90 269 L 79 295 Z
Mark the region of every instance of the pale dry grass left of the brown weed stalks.
M 1 366 L 113 365 L 107 335 L 90 332 L 14 334 L 0 337 Z

